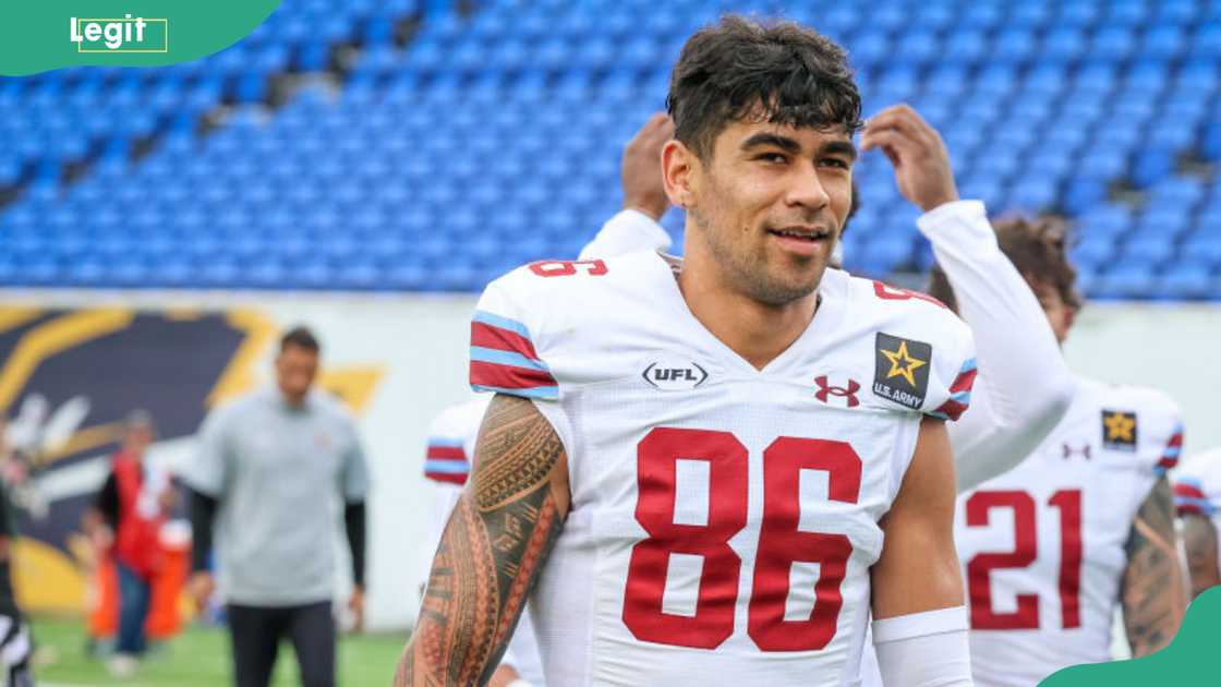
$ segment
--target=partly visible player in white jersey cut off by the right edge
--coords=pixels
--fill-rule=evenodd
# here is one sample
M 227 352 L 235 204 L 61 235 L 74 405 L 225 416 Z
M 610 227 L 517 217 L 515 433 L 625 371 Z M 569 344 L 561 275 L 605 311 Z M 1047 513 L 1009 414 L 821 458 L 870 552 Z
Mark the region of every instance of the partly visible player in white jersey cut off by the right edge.
M 1175 506 L 1183 522 L 1183 548 L 1192 578 L 1192 598 L 1221 584 L 1217 557 L 1221 531 L 1221 449 L 1194 456 L 1178 471 Z

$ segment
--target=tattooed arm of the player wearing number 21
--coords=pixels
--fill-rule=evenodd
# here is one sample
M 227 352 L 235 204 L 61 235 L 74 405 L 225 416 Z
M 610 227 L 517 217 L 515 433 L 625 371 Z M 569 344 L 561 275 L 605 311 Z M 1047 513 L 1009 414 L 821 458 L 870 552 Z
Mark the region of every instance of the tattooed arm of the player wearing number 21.
M 1170 483 L 1158 480 L 1137 512 L 1125 546 L 1123 625 L 1133 658 L 1151 654 L 1175 638 L 1187 594 L 1178 565 Z

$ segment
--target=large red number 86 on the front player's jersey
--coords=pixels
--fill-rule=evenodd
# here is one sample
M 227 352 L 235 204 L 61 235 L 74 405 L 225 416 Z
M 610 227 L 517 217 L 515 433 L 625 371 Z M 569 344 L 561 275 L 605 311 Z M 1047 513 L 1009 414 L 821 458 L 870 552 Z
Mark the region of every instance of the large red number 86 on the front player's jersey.
M 708 463 L 707 524 L 674 522 L 680 458 Z M 631 553 L 624 625 L 646 642 L 716 648 L 734 633 L 742 561 L 729 540 L 746 527 L 747 450 L 728 432 L 657 428 L 640 443 L 636 462 L 636 521 L 648 538 Z M 764 652 L 822 649 L 835 636 L 844 601 L 840 583 L 852 544 L 844 534 L 797 529 L 802 469 L 827 472 L 834 501 L 855 504 L 861 491 L 861 458 L 842 441 L 781 436 L 763 451 L 763 520 L 747 634 Z M 670 554 L 703 559 L 692 616 L 662 610 Z M 789 573 L 799 561 L 821 564 L 814 608 L 805 620 L 785 620 Z

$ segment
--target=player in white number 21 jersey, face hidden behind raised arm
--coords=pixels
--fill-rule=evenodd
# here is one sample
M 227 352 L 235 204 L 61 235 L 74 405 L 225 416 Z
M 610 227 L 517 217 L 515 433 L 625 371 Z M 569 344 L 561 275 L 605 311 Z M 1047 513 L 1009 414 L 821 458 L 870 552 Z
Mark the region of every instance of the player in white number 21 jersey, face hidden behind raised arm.
M 1063 341 L 1081 301 L 1062 229 L 1007 220 L 996 232 Z M 944 282 L 932 292 L 952 303 Z M 1079 379 L 1029 458 L 958 498 L 976 685 L 1033 686 L 1110 660 L 1120 603 L 1133 655 L 1173 638 L 1183 590 L 1165 472 L 1182 446 L 1178 416 L 1159 391 Z

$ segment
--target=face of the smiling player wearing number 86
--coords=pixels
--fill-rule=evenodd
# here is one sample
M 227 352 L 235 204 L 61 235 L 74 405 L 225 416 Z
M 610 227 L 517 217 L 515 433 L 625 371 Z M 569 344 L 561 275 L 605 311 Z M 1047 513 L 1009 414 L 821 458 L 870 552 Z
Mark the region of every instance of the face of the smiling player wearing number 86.
M 696 163 L 687 211 L 723 277 L 762 303 L 812 293 L 852 204 L 846 130 L 735 122 Z

